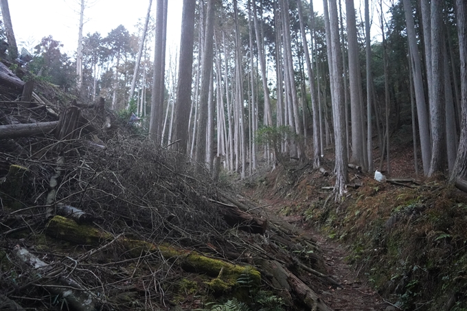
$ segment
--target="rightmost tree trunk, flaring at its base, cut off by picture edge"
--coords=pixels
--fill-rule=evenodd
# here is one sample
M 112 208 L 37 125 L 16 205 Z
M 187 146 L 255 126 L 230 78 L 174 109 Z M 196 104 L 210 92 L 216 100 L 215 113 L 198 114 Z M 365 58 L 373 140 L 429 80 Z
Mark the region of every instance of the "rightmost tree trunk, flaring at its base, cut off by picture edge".
M 449 178 L 455 183 L 458 177 L 467 176 L 467 3 L 464 0 L 456 0 L 457 8 L 457 32 L 459 33 L 459 56 L 461 62 L 461 108 L 462 126 L 457 158 L 453 172 Z

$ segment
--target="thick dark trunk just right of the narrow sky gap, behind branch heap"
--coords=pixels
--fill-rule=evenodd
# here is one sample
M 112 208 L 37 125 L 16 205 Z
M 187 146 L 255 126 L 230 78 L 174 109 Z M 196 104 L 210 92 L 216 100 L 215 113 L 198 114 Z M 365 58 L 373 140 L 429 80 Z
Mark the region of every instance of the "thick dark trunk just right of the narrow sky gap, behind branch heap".
M 183 0 L 181 21 L 181 40 L 179 57 L 179 79 L 176 90 L 174 149 L 181 155 L 187 154 L 188 120 L 190 119 L 190 105 L 192 102 L 192 68 L 193 68 L 193 32 L 196 2 Z M 179 157 L 181 163 L 181 157 Z

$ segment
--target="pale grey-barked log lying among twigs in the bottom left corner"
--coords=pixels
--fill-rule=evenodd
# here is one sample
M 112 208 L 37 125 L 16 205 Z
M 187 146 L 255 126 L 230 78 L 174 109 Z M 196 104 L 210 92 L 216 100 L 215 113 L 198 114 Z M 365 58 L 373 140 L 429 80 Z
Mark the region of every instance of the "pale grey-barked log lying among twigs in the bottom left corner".
M 53 269 L 52 266 L 40 260 L 27 249 L 19 246 L 14 247 L 13 254 L 22 263 L 22 266 L 30 269 L 29 273 L 36 279 L 36 284 L 43 284 L 42 286 L 53 295 L 60 295 L 66 299 L 71 310 L 95 310 L 93 296 L 77 281 L 69 277 L 57 277 L 63 268 Z M 53 277 L 56 279 L 52 279 Z

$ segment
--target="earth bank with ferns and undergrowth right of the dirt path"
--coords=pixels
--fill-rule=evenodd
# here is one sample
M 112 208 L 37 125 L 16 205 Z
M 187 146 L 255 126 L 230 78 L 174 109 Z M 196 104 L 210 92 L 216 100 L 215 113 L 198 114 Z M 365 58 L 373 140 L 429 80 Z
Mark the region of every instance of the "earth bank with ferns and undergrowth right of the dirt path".
M 309 206 L 307 222 L 348 244 L 348 262 L 398 308 L 467 310 L 467 197 L 459 190 L 367 180 L 339 206 Z

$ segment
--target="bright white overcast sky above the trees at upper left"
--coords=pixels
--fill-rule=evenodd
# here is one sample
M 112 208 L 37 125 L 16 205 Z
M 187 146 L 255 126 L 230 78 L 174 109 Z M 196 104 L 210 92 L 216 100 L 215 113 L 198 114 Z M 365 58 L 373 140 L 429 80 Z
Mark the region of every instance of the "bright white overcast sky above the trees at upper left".
M 62 51 L 73 56 L 78 45 L 80 0 L 10 0 L 10 15 L 14 35 L 20 47 L 37 45 L 41 38 L 52 35 L 63 43 Z M 137 32 L 138 19 L 144 20 L 149 0 L 87 0 L 84 10 L 83 35 L 100 32 L 102 37 L 122 24 L 131 33 Z M 180 41 L 183 0 L 168 1 L 168 44 Z M 155 17 L 156 0 L 152 1 Z

